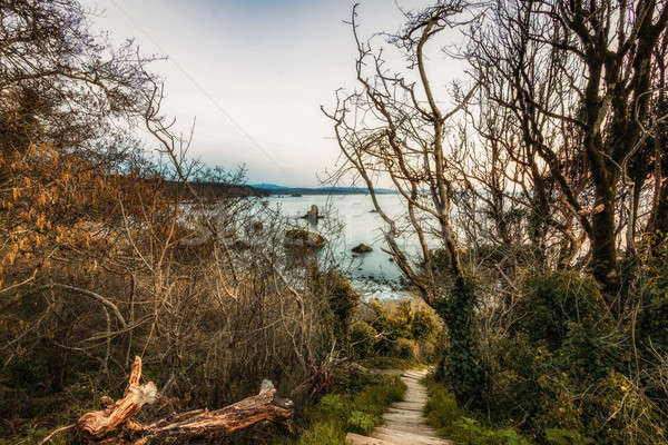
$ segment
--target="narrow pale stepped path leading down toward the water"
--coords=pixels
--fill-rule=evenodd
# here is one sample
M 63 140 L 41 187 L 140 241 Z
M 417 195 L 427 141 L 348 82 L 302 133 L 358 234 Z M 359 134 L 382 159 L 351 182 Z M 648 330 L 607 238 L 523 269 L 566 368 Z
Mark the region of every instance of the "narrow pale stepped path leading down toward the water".
M 450 445 L 452 442 L 436 436 L 422 416 L 426 403 L 426 388 L 420 379 L 428 370 L 406 370 L 401 379 L 406 384 L 402 402 L 397 402 L 383 415 L 385 425 L 374 428 L 371 437 L 348 433 L 351 445 Z

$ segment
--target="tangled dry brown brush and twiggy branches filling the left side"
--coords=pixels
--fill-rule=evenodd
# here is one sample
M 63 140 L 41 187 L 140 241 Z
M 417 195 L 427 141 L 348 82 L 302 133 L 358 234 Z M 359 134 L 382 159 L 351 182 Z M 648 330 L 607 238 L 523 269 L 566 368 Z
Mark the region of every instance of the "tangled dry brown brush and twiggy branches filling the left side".
M 341 283 L 285 251 L 243 172 L 186 161 L 155 58 L 107 51 L 73 0 L 3 1 L 0 19 L 0 435 L 36 441 L 117 398 L 136 355 L 160 394 L 148 417 L 263 378 L 297 399 L 327 387 Z

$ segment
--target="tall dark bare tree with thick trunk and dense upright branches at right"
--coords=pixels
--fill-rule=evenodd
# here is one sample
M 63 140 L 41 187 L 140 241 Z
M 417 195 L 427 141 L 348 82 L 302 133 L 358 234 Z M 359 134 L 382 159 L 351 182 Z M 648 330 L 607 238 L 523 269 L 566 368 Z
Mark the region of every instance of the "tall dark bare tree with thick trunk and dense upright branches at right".
M 524 151 L 524 160 L 536 154 L 549 167 L 560 195 L 549 214 L 562 214 L 553 226 L 570 238 L 571 251 L 589 246 L 591 270 L 617 313 L 618 234 L 626 225 L 635 239 L 640 190 L 657 157 L 641 123 L 650 120 L 649 91 L 664 59 L 666 8 L 656 1 L 495 2 L 470 33 L 473 76 L 494 106 L 515 115 L 522 138 L 509 149 Z M 627 221 L 616 215 L 631 181 Z M 540 190 L 534 187 L 536 198 Z

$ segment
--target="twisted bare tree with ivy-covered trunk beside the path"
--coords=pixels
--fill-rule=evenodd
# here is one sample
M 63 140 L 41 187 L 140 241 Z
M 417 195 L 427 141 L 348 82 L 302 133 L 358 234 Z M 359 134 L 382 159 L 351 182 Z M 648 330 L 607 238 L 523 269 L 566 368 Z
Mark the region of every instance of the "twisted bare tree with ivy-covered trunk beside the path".
M 373 205 L 385 224 L 390 254 L 421 294 L 443 316 L 450 329 L 450 377 L 463 404 L 482 404 L 484 383 L 473 335 L 475 294 L 468 281 L 455 233 L 451 224 L 451 196 L 456 178 L 448 146 L 449 122 L 474 93 L 456 97 L 450 110 L 441 108 L 438 89 L 428 72 L 426 49 L 435 37 L 468 22 L 466 3 L 438 2 L 418 13 L 406 14 L 403 30 L 389 37 L 409 61 L 405 73 L 393 75 L 386 68 L 382 50 L 363 42 L 357 33 L 356 9 L 351 27 L 357 47 L 356 80 L 360 89 L 336 92 L 336 106 L 323 112 L 333 121 L 338 146 L 345 157 L 344 168 L 354 170 L 367 187 Z M 415 80 L 413 80 L 415 79 Z M 401 194 L 406 207 L 406 225 L 393 219 L 375 194 L 376 182 L 389 180 Z M 404 251 L 397 239 L 415 236 L 420 260 Z M 444 298 L 443 280 L 429 238 L 436 237 L 448 257 L 451 296 Z M 442 265 L 439 265 L 442 266 Z

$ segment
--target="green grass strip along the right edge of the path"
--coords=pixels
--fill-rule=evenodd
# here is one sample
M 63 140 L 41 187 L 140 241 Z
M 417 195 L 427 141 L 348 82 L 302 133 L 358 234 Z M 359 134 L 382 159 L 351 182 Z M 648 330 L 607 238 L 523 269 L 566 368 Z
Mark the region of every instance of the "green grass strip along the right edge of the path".
M 464 445 L 531 445 L 513 428 L 494 428 L 468 416 L 456 406 L 454 395 L 443 384 L 425 378 L 429 399 L 424 415 L 436 433 Z

